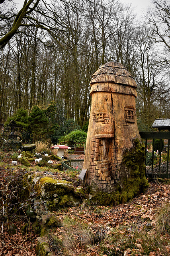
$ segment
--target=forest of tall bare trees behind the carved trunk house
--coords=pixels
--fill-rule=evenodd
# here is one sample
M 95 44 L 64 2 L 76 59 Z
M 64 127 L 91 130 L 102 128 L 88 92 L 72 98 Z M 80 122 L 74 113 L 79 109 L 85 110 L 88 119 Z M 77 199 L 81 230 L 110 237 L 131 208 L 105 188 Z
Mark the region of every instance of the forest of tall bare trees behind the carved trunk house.
M 54 143 L 86 131 L 92 74 L 110 60 L 137 82 L 139 130 L 170 118 L 170 1 L 151 2 L 139 19 L 119 0 L 0 0 L 0 123 Z

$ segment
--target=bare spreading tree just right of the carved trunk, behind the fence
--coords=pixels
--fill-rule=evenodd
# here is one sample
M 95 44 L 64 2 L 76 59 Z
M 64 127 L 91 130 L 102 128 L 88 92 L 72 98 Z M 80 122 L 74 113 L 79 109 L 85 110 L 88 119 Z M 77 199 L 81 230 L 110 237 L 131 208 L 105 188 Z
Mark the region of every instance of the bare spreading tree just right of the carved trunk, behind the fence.
M 169 92 L 168 76 L 163 66 L 159 65 L 161 55 L 156 52 L 156 45 L 152 40 L 153 31 L 151 28 L 141 26 L 138 29 L 137 48 L 139 59 L 135 79 L 138 84 L 138 95 L 142 99 L 140 107 L 142 118 L 150 129 L 156 115 L 155 105 L 161 95 Z

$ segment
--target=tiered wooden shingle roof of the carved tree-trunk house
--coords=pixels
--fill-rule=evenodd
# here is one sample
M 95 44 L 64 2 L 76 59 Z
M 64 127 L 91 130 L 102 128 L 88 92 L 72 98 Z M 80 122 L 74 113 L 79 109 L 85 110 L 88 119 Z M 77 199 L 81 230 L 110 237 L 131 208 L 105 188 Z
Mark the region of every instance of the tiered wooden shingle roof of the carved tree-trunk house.
M 137 97 L 137 84 L 129 71 L 119 62 L 107 62 L 92 75 L 93 92 L 115 92 Z

